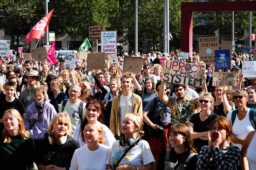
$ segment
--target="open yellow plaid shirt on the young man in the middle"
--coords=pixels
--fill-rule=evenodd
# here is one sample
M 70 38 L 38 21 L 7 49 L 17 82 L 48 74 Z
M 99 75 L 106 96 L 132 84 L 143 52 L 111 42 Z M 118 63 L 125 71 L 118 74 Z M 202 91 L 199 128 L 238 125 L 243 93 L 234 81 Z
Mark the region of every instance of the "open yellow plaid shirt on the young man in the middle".
M 122 93 L 119 93 L 113 98 L 111 115 L 110 115 L 110 130 L 114 136 L 120 136 L 122 130 L 121 120 L 121 108 L 120 108 L 120 97 Z M 138 95 L 132 93 L 133 109 L 132 113 L 138 113 L 142 118 L 142 99 Z

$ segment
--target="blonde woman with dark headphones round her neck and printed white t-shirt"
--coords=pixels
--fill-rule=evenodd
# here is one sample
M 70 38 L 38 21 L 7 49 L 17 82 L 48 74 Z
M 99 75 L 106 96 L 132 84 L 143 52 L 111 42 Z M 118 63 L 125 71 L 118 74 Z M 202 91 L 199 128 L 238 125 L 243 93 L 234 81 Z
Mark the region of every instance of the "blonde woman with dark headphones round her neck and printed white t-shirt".
M 107 161 L 108 170 L 153 170 L 155 159 L 148 142 L 141 139 L 144 135 L 142 128 L 141 116 L 126 114 L 122 124 L 125 137 L 113 143 Z

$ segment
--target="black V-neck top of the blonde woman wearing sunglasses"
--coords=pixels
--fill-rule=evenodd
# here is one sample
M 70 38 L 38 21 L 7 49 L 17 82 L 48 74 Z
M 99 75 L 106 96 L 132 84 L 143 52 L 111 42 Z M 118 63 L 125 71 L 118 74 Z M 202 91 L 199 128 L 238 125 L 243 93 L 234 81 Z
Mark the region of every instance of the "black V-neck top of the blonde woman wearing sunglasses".
M 190 122 L 194 124 L 193 130 L 195 132 L 206 132 L 210 130 L 212 121 L 218 117 L 217 114 L 211 113 L 205 121 L 201 121 L 199 115 L 200 113 L 194 114 L 190 120 Z M 196 151 L 199 153 L 203 146 L 208 145 L 208 141 L 196 138 L 193 139 L 193 144 L 197 149 Z

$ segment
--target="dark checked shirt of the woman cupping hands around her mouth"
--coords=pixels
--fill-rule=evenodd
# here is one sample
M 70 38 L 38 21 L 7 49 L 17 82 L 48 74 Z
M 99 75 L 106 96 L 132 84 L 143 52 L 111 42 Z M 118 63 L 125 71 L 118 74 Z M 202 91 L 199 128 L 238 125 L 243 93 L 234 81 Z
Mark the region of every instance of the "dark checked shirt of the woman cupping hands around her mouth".
M 209 149 L 203 146 L 196 163 L 197 170 L 236 170 L 241 159 L 241 151 L 236 146 Z

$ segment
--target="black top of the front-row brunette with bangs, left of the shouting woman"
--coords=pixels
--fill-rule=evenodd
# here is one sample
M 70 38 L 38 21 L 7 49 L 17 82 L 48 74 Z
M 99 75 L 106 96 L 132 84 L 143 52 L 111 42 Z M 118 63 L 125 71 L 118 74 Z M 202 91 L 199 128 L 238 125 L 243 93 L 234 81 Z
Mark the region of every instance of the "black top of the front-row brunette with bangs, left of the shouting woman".
M 163 150 L 160 153 L 159 163 L 158 163 L 157 170 L 164 170 L 165 154 L 166 154 L 166 150 Z M 176 170 L 181 163 L 185 163 L 185 161 L 187 160 L 189 155 L 190 155 L 190 152 L 187 151 L 187 150 L 185 152 L 181 153 L 181 154 L 177 154 L 174 151 L 174 148 L 172 148 L 168 161 L 172 162 L 172 163 L 177 163 L 178 162 L 178 164 L 174 167 L 174 170 Z M 186 170 L 196 170 L 196 162 L 197 162 L 197 160 L 198 160 L 198 155 L 194 155 L 191 158 L 191 160 L 190 160 Z

